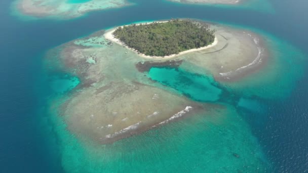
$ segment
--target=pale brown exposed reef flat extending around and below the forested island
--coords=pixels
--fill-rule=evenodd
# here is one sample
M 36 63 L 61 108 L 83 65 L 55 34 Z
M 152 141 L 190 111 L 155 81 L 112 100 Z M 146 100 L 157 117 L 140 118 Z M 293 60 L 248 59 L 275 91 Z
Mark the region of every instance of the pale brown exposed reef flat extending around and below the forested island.
M 175 56 L 174 60 L 144 59 L 109 41 L 102 31 L 56 48 L 58 54 L 51 57 L 58 57 L 62 65 L 58 68 L 81 79 L 78 90 L 60 110 L 67 128 L 78 136 L 110 143 L 204 111 L 207 104 L 166 90 L 146 73 L 150 66 L 171 65 L 199 74 L 210 71 L 216 80 L 232 80 L 264 63 L 267 50 L 260 36 L 225 26 L 212 27 L 217 45 Z

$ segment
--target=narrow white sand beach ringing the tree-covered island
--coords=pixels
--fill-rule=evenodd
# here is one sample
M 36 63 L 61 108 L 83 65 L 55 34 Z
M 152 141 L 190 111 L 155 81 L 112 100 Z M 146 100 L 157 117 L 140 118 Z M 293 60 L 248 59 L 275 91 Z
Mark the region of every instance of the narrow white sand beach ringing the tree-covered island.
M 160 22 L 157 22 L 157 23 L 165 23 L 165 22 L 168 22 L 168 21 L 160 21 Z M 153 23 L 153 22 L 147 22 L 147 24 L 149 23 Z M 145 23 L 138 23 L 137 25 L 140 25 L 140 24 L 145 24 Z M 127 26 L 127 25 L 126 25 Z M 120 26 L 120 27 L 123 27 L 123 26 Z M 118 27 L 117 27 L 118 28 Z M 117 28 L 113 28 L 111 30 L 108 30 L 105 34 L 104 34 L 104 37 L 112 42 L 115 42 L 116 44 L 119 44 L 135 53 L 137 53 L 139 56 L 143 57 L 143 58 L 149 58 L 149 59 L 169 59 L 169 58 L 174 58 L 176 56 L 180 56 L 180 55 L 183 55 L 183 54 L 187 54 L 187 53 L 190 53 L 190 52 L 195 52 L 195 51 L 201 51 L 201 50 L 205 50 L 205 49 L 209 49 L 209 48 L 212 48 L 214 47 L 215 45 L 217 45 L 218 43 L 218 39 L 216 38 L 215 36 L 215 39 L 214 39 L 214 42 L 211 44 L 211 45 L 208 45 L 208 46 L 205 46 L 205 47 L 202 47 L 202 48 L 196 48 L 196 49 L 190 49 L 190 50 L 187 50 L 187 51 L 183 51 L 183 52 L 180 52 L 178 54 L 173 54 L 173 55 L 168 55 L 168 56 L 164 56 L 164 57 L 157 57 L 157 56 L 148 56 L 148 55 L 145 55 L 145 54 L 142 54 L 142 53 L 139 53 L 137 50 L 135 49 L 132 49 L 130 47 L 128 47 L 127 45 L 124 44 L 124 42 L 122 42 L 120 39 L 118 38 L 115 38 L 114 35 L 113 35 L 113 32 L 117 29 Z

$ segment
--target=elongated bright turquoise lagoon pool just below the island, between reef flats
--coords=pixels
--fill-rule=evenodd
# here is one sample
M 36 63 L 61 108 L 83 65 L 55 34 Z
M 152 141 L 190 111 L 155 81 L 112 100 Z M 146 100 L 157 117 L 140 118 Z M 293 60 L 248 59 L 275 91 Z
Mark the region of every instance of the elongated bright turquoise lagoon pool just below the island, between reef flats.
M 222 92 L 215 86 L 212 77 L 190 73 L 182 69 L 152 67 L 148 75 L 152 80 L 167 85 L 196 101 L 217 101 Z

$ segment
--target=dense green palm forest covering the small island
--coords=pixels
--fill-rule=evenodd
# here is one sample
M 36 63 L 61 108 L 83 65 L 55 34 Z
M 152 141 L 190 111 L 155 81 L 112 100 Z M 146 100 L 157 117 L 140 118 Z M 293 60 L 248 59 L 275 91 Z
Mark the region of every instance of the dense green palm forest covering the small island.
M 209 25 L 190 20 L 132 24 L 113 32 L 128 47 L 149 56 L 167 56 L 212 44 L 214 31 Z

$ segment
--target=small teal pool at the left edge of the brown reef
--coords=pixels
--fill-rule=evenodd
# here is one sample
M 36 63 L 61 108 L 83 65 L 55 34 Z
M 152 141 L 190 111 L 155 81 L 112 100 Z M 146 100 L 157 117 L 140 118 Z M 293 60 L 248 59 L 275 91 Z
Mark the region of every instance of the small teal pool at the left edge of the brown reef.
M 75 88 L 80 83 L 78 77 L 72 77 L 69 75 L 53 76 L 50 80 L 51 89 L 58 94 L 64 94 Z

